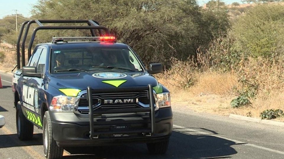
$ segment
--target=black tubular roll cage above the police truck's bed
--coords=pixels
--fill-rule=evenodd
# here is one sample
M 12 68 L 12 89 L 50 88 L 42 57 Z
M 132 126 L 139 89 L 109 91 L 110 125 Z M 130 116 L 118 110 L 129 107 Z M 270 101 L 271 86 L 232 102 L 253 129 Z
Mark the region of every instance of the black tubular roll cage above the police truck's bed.
M 28 60 L 31 57 L 31 48 L 33 46 L 33 41 L 35 39 L 36 32 L 38 30 L 62 30 L 62 29 L 89 29 L 91 31 L 92 37 L 95 37 L 95 32 L 94 30 L 98 30 L 100 36 L 110 36 L 109 30 L 106 27 L 101 27 L 99 26 L 99 22 L 94 21 L 94 20 L 30 20 L 30 21 L 25 21 L 22 24 L 20 34 L 18 36 L 17 40 L 17 69 L 20 69 L 20 42 L 22 39 L 22 34 L 25 29 L 25 34 L 22 39 L 22 67 L 25 66 L 25 41 L 28 36 L 28 32 L 30 29 L 30 25 L 36 23 L 38 24 L 39 27 L 35 28 L 32 34 L 32 37 L 30 39 L 30 44 L 28 47 Z M 43 26 L 42 23 L 87 23 L 88 26 Z M 27 26 L 26 26 L 27 25 Z M 105 35 L 103 34 L 102 30 L 105 31 Z

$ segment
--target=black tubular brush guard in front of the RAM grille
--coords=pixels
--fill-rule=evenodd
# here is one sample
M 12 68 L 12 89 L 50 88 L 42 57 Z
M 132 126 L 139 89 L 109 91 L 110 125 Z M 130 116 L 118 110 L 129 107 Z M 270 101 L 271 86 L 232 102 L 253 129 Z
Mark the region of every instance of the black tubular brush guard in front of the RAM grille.
M 92 93 L 96 93 L 95 90 L 89 86 L 87 87 L 87 100 L 89 102 L 89 120 L 90 120 L 90 138 L 98 138 L 99 135 L 114 135 L 114 134 L 130 134 L 141 133 L 146 136 L 152 136 L 155 132 L 155 107 L 154 107 L 154 94 L 152 85 L 148 87 L 136 87 L 134 89 L 145 90 L 148 89 L 148 98 L 150 101 L 150 107 L 148 108 L 127 108 L 127 109 L 112 109 L 112 110 L 93 110 Z M 125 88 L 128 89 L 128 88 Z M 133 89 L 133 88 L 132 88 Z M 130 88 L 131 90 L 131 88 Z M 91 99 L 91 100 L 90 100 Z M 138 130 L 126 130 L 126 131 L 109 131 L 109 132 L 94 132 L 94 114 L 109 114 L 109 113 L 131 113 L 131 112 L 150 112 L 151 129 L 138 129 Z

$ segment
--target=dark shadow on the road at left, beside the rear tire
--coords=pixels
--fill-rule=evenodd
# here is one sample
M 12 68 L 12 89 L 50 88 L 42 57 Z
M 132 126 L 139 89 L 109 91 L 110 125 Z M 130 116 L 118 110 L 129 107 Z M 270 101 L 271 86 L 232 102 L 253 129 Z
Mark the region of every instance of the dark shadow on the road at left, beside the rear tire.
M 0 148 L 42 145 L 42 134 L 33 134 L 33 139 L 20 141 L 17 134 L 0 135 Z

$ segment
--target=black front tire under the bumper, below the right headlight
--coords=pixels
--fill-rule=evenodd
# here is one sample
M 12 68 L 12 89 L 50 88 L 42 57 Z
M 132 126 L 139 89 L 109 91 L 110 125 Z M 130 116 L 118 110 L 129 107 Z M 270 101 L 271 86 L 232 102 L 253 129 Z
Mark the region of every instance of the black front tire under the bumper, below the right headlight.
M 169 139 L 157 143 L 147 143 L 150 154 L 164 154 L 168 150 Z

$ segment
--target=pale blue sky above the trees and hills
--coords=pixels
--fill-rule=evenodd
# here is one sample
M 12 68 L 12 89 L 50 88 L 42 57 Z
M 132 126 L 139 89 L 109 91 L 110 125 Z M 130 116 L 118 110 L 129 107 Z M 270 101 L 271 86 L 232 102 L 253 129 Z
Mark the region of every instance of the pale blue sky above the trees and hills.
M 33 4 L 36 4 L 38 0 L 0 0 L 0 19 L 4 16 L 16 14 L 16 9 L 18 14 L 22 14 L 25 17 L 31 16 L 30 10 Z M 197 0 L 199 5 L 202 6 L 209 0 Z M 226 4 L 231 4 L 233 2 L 238 2 L 241 4 L 241 0 L 223 0 Z

